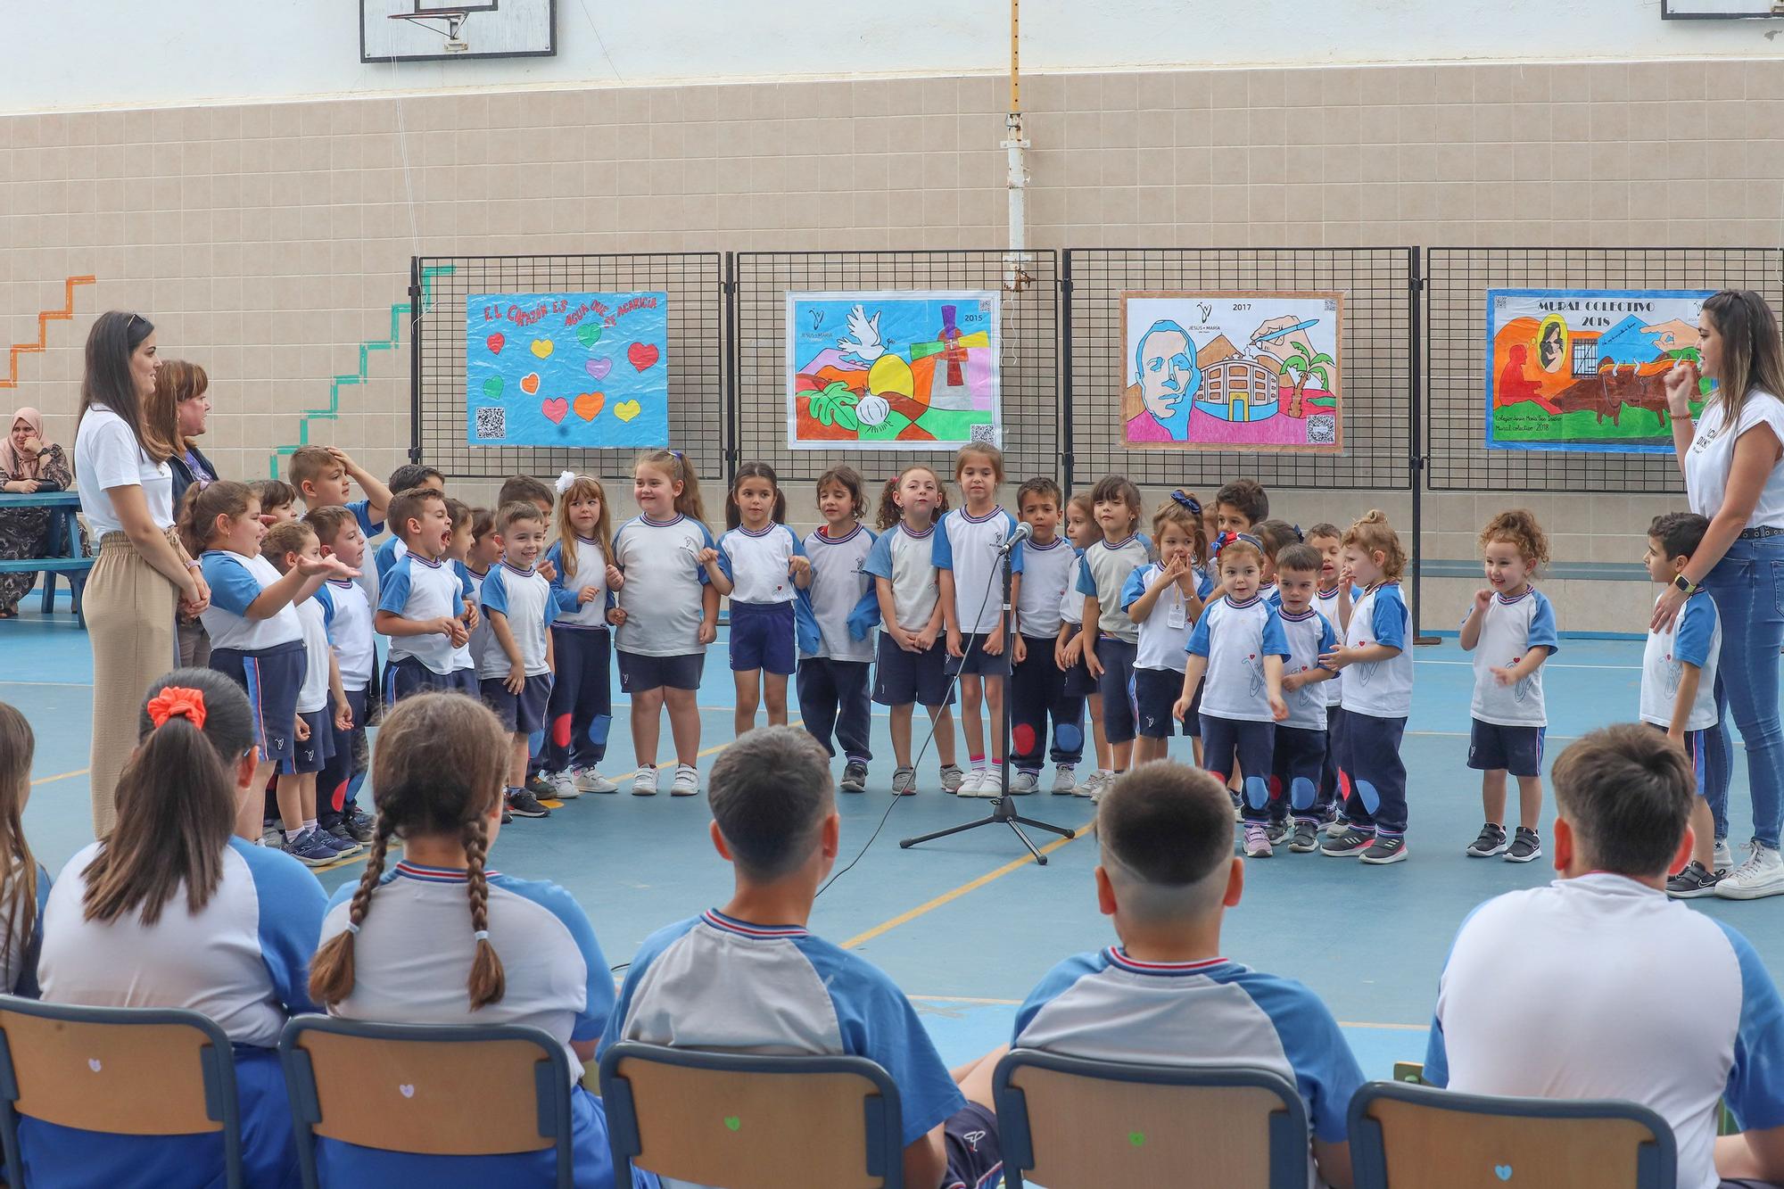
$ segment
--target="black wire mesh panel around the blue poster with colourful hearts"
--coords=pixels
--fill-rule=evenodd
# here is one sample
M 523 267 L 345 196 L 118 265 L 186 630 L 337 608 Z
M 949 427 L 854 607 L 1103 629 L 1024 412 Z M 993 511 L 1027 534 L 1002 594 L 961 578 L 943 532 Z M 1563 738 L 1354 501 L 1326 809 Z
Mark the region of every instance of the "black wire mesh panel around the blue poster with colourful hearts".
M 473 446 L 466 439 L 466 298 L 482 293 L 665 293 L 669 445 L 701 478 L 723 478 L 724 259 L 717 252 L 614 255 L 430 255 L 416 261 L 426 302 L 414 334 L 410 448 L 451 478 L 557 475 L 628 478 L 635 450 Z

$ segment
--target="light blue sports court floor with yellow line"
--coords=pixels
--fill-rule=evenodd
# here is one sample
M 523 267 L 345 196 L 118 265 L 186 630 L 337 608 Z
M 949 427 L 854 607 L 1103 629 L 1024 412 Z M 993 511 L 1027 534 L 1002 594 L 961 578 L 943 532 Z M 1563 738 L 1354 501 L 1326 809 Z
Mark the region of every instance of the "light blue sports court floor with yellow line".
M 37 734 L 25 827 L 54 875 L 89 841 L 93 671 L 87 637 L 73 618 L 59 611 L 45 619 L 36 598 L 27 603 L 20 619 L 0 623 L 0 700 L 23 709 Z M 731 736 L 724 655 L 721 636 L 701 689 L 701 746 L 708 757 Z M 1550 757 L 1591 727 L 1634 716 L 1639 661 L 1636 641 L 1563 641 L 1547 666 Z M 1226 927 L 1227 957 L 1301 978 L 1331 1005 L 1370 1077 L 1390 1077 L 1395 1060 L 1422 1059 L 1438 973 L 1463 916 L 1495 893 L 1552 877 L 1547 859 L 1516 866 L 1463 855 L 1481 825 L 1479 777 L 1465 768 L 1472 671 L 1452 639 L 1420 648 L 1416 664 L 1406 734 L 1409 861 L 1365 868 L 1281 850 L 1249 864 L 1245 900 L 1227 914 Z M 792 712 L 797 721 L 797 705 Z M 615 698 L 603 771 L 621 782 L 633 764 L 626 714 L 624 698 Z M 665 746 L 667 736 L 665 727 Z M 855 868 L 819 898 L 812 928 L 887 969 L 917 1003 L 942 1055 L 962 1062 L 1010 1039 L 1015 1005 L 1053 962 L 1113 941 L 1092 891 L 1095 841 L 1037 832 L 1037 844 L 1047 850 L 1045 868 L 1028 859 L 1006 827 L 899 850 L 901 837 L 979 818 L 990 803 L 940 793 L 933 753 L 919 764 L 922 794 L 894 803 L 883 716 L 874 719 L 874 746 L 883 752 L 869 793 L 838 796 L 838 869 L 862 850 L 888 805 L 890 818 Z M 1172 753 L 1188 759 L 1186 741 L 1174 741 Z M 703 761 L 703 775 L 708 766 Z M 1047 780 L 1051 769 L 1042 787 Z M 1040 793 L 1019 805 L 1028 816 L 1065 827 L 1088 827 L 1092 819 L 1090 802 L 1079 798 Z M 1730 814 L 1732 837 L 1741 841 L 1748 798 L 1739 761 Z M 1550 818 L 1545 805 L 1545 837 Z M 730 868 L 712 850 L 708 821 L 705 800 L 589 794 L 548 819 L 503 828 L 492 862 L 574 893 L 608 960 L 617 964 L 660 925 L 728 898 Z M 360 869 L 357 861 L 346 861 L 319 875 L 332 889 L 359 878 Z M 1784 969 L 1784 902 L 1693 905 L 1734 923 L 1773 971 Z

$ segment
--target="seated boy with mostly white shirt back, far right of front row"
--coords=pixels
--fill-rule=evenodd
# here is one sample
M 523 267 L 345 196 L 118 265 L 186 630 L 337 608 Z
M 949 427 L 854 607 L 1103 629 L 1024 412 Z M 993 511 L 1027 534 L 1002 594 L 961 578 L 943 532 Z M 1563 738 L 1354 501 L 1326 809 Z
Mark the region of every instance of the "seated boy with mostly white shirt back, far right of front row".
M 1623 723 L 1563 752 L 1550 782 L 1561 878 L 1463 923 L 1424 1078 L 1638 1102 L 1679 1144 L 1668 1184 L 1784 1182 L 1784 1000 L 1752 943 L 1663 891 L 1691 853 L 1689 761 L 1652 725 Z M 1716 1137 L 1722 1105 L 1741 1134 Z

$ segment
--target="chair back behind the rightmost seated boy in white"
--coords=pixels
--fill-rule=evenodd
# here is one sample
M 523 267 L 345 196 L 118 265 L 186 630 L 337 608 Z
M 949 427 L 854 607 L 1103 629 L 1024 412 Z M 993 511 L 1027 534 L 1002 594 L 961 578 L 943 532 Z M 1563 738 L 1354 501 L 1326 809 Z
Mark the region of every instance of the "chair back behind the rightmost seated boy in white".
M 1631 1102 L 1488 1098 L 1368 1082 L 1350 1100 L 1356 1189 L 1672 1189 L 1666 1119 Z

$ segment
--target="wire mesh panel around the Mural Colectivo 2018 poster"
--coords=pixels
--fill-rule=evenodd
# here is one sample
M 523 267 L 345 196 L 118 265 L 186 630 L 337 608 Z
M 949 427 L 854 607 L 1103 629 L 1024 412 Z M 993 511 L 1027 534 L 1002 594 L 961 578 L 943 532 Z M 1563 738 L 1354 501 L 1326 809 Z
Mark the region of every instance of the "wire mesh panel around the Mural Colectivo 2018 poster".
M 1425 457 L 1433 491 L 1684 491 L 1666 453 L 1486 448 L 1488 289 L 1754 289 L 1784 303 L 1777 248 L 1429 248 Z

